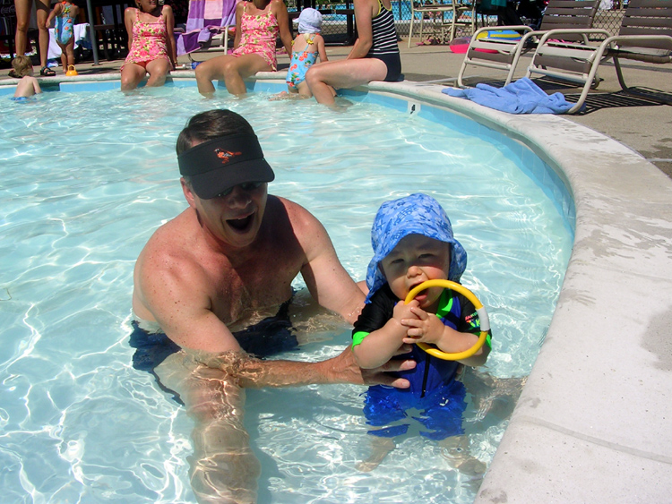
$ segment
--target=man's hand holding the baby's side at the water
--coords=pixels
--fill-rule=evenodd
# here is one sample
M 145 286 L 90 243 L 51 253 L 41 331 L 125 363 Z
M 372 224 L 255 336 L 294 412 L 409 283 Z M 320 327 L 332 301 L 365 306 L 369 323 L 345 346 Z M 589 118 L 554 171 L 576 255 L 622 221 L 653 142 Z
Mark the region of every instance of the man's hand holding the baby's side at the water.
M 396 355 L 409 353 L 408 345 L 401 346 Z M 332 375 L 333 383 L 353 383 L 355 385 L 390 385 L 397 389 L 408 389 L 409 380 L 395 378 L 386 374 L 394 371 L 408 371 L 416 367 L 415 361 L 388 361 L 375 369 L 361 369 L 355 362 L 355 355 L 352 353 L 352 346 L 348 346 L 338 356 L 327 361 L 331 363 L 329 370 Z

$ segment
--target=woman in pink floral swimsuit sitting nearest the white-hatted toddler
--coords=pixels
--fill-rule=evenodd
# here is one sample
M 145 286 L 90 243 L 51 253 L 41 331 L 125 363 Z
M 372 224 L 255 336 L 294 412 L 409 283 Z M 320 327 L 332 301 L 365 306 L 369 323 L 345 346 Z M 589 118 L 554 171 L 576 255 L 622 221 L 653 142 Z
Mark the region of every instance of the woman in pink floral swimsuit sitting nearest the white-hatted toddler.
M 278 33 L 285 50 L 291 54 L 289 14 L 282 0 L 238 2 L 233 53 L 212 58 L 196 67 L 199 92 L 211 97 L 215 91 L 212 81 L 223 79 L 230 94 L 244 95 L 246 77 L 276 70 L 275 40 Z

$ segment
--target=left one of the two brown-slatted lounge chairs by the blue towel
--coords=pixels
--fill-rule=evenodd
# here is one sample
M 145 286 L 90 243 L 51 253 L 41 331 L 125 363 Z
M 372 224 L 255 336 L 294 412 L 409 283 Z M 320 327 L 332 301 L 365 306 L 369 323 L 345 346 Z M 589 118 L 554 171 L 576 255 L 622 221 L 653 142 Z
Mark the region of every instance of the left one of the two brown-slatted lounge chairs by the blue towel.
M 583 29 L 590 28 L 598 12 L 599 0 L 550 0 L 544 17 L 541 19 L 539 30 L 532 30 L 529 26 L 490 26 L 477 30 L 471 37 L 467 54 L 457 75 L 457 85 L 467 86 L 463 82 L 464 73 L 468 65 L 484 66 L 505 70 L 507 72 L 504 85 L 513 79 L 516 65 L 524 51 L 536 47 L 536 40 L 547 30 L 559 28 Z M 488 38 L 487 34 L 497 30 L 515 30 L 521 33 L 520 40 Z M 587 37 L 570 36 L 570 40 L 582 40 L 588 43 Z

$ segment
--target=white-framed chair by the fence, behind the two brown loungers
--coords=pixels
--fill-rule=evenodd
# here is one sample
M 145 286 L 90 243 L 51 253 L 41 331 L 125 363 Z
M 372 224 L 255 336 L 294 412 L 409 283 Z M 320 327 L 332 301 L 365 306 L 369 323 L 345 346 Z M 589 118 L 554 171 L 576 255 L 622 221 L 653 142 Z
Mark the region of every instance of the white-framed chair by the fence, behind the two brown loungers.
M 449 29 L 448 42 L 455 38 L 455 31 L 458 25 L 470 26 L 471 31 L 476 27 L 476 1 L 467 2 L 463 0 L 435 0 L 431 4 L 423 3 L 423 0 L 411 0 L 410 2 L 410 26 L 409 26 L 409 47 L 410 39 L 413 37 L 413 22 L 420 21 L 420 40 L 422 40 L 422 29 L 424 21 L 431 24 L 436 31 L 436 24 L 439 25 L 441 32 L 440 38 L 444 38 L 444 30 Z M 420 18 L 416 19 L 416 14 Z M 449 16 L 447 21 L 445 16 Z M 435 20 L 439 19 L 437 23 Z

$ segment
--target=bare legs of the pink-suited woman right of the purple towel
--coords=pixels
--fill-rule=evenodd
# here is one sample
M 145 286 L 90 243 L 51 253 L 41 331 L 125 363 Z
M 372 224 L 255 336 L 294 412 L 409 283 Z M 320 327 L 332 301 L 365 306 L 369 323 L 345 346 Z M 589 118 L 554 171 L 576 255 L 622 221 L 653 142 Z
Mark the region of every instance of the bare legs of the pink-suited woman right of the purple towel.
M 259 55 L 219 56 L 196 67 L 198 92 L 211 97 L 215 92 L 212 81 L 224 79 L 230 94 L 246 94 L 244 79 L 257 72 L 271 72 L 271 65 Z

